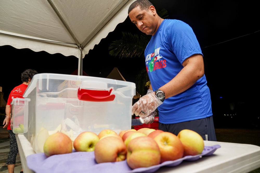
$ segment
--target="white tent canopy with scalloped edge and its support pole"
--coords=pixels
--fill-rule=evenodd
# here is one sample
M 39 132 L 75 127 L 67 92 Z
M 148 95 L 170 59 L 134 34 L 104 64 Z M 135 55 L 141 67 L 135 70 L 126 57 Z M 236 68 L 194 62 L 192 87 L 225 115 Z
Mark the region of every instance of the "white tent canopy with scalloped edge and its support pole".
M 127 18 L 134 0 L 1 0 L 0 46 L 79 58 Z

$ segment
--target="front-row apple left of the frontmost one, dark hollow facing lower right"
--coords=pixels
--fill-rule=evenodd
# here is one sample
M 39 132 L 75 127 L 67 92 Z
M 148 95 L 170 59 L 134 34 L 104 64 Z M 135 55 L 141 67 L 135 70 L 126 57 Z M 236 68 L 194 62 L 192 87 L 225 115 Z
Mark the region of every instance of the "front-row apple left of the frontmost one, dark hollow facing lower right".
M 97 142 L 94 155 L 97 163 L 119 162 L 126 159 L 127 149 L 122 139 L 108 136 Z

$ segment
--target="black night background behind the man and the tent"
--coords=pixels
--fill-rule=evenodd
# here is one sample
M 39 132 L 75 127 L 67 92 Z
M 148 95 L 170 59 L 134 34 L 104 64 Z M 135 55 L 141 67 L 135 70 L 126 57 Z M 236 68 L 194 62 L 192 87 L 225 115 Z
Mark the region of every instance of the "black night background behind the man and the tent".
M 152 1 L 165 8 L 171 19 L 189 24 L 202 48 L 205 75 L 211 92 L 216 127 L 259 127 L 257 113 L 257 62 L 259 61 L 259 9 L 253 1 Z M 117 25 L 83 59 L 83 71 L 105 78 L 117 67 L 126 81 L 135 82 L 145 68 L 144 58 L 119 59 L 108 54 L 108 46 L 122 31 L 140 33 L 130 19 Z M 1 41 L 1 40 L 0 40 Z M 21 73 L 33 68 L 39 73 L 71 74 L 78 59 L 59 53 L 34 52 L 0 46 L 1 83 L 7 101 L 12 88 L 21 84 Z M 257 126 L 258 125 L 258 126 Z

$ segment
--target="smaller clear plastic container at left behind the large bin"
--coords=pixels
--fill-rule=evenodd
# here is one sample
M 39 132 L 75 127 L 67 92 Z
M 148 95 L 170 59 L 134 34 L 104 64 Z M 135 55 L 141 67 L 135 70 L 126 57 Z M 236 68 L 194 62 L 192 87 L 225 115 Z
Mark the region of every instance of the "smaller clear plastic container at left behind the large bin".
M 28 98 L 15 98 L 11 102 L 11 116 L 13 133 L 26 133 L 28 131 Z

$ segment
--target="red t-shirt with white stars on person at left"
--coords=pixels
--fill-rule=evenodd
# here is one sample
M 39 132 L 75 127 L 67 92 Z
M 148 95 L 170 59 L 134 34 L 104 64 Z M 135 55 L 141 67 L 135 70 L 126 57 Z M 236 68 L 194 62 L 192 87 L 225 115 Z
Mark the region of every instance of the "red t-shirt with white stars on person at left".
M 28 87 L 28 85 L 26 85 L 26 84 L 21 84 L 17 87 L 14 87 L 14 89 L 12 89 L 12 91 L 8 97 L 7 105 L 11 106 L 11 102 L 14 98 L 23 98 L 23 94 L 27 87 Z M 7 130 L 11 130 L 10 124 L 11 123 L 8 124 Z

